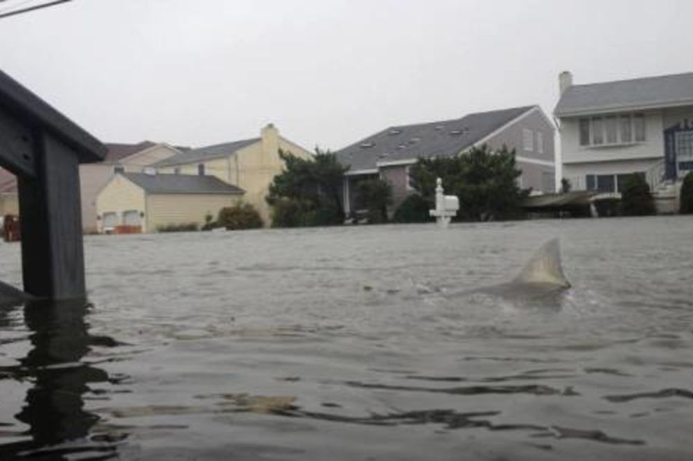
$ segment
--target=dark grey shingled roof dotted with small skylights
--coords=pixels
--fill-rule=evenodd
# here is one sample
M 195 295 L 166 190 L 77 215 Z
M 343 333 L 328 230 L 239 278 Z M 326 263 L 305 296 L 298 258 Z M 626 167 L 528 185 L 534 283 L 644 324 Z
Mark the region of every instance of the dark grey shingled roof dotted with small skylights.
M 373 170 L 377 163 L 429 156 L 454 156 L 537 106 L 469 114 L 455 120 L 389 127 L 336 152 L 351 171 Z

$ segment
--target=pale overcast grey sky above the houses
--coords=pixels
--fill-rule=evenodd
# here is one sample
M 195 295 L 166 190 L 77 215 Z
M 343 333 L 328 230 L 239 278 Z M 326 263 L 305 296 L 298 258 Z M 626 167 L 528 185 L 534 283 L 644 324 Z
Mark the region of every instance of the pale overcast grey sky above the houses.
M 36 1 L 8 0 L 0 9 Z M 337 150 L 389 125 L 693 71 L 691 0 L 74 0 L 0 19 L 0 69 L 102 141 L 275 123 Z

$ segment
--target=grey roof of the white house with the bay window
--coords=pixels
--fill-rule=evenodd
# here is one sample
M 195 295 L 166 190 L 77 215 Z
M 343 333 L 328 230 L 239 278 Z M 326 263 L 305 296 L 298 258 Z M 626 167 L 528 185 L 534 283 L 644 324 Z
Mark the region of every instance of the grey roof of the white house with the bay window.
M 693 73 L 572 85 L 561 95 L 554 114 L 567 117 L 681 105 L 693 105 Z

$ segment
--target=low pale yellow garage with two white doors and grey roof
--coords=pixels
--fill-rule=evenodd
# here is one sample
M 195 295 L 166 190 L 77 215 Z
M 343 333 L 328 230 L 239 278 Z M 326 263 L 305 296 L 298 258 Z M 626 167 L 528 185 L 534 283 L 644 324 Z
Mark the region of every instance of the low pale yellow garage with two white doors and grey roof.
M 155 232 L 171 224 L 200 225 L 242 198 L 243 190 L 210 175 L 119 172 L 96 199 L 98 230 L 124 226 L 129 232 Z

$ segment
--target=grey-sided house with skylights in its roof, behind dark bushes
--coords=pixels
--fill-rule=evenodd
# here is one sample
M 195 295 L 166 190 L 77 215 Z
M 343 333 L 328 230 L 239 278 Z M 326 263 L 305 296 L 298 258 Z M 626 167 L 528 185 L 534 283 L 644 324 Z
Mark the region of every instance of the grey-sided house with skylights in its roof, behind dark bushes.
M 398 125 L 336 152 L 349 165 L 344 179 L 344 211 L 358 210 L 355 190 L 360 181 L 382 178 L 392 186 L 394 206 L 414 188 L 409 168 L 419 157 L 455 156 L 471 147 L 487 145 L 516 150 L 522 170 L 520 187 L 554 192 L 554 126 L 538 106 L 516 107 L 454 120 Z

